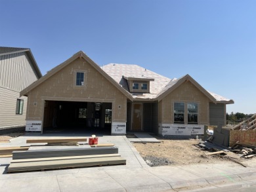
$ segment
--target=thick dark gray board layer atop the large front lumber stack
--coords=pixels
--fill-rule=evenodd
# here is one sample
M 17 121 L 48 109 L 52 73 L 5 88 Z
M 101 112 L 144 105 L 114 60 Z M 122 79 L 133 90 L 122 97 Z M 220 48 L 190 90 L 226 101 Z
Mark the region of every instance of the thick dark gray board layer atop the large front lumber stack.
M 58 150 L 40 150 L 40 151 L 13 151 L 12 159 L 35 159 L 48 157 L 70 157 L 81 155 L 102 155 L 118 153 L 117 147 L 88 147 L 74 149 L 58 149 Z

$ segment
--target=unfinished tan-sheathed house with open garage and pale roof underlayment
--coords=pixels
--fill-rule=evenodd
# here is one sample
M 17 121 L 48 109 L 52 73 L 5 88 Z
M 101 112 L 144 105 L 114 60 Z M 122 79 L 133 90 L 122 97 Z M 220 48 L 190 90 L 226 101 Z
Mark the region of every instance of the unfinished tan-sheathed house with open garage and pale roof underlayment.
M 190 75 L 169 79 L 137 65 L 99 67 L 84 52 L 28 86 L 28 131 L 47 128 L 131 131 L 161 136 L 203 134 L 204 125 L 226 124 L 228 100 Z

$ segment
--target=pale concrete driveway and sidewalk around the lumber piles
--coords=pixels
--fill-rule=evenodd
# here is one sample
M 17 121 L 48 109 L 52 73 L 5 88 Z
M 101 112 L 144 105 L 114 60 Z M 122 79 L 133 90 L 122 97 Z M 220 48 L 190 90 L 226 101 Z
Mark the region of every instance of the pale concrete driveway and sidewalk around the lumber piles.
M 26 134 L 0 146 L 26 145 L 27 138 L 41 136 Z M 247 161 L 246 168 L 232 162 L 150 167 L 125 136 L 98 136 L 98 140 L 119 147 L 119 154 L 127 159 L 127 164 L 6 174 L 11 158 L 1 158 L 0 191 L 256 190 L 255 160 Z

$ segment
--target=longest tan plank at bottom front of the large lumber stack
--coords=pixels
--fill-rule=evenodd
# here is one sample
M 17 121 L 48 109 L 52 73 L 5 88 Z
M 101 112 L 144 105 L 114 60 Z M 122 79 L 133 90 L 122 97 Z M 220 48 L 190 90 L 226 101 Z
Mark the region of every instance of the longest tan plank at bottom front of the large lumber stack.
M 109 164 L 126 164 L 126 160 L 122 157 L 99 157 L 88 159 L 68 159 L 57 161 L 40 161 L 40 162 L 25 162 L 11 163 L 7 172 L 22 172 L 29 170 L 47 170 L 54 168 L 74 168 L 84 166 L 102 166 Z

